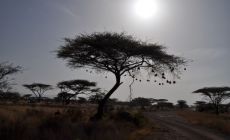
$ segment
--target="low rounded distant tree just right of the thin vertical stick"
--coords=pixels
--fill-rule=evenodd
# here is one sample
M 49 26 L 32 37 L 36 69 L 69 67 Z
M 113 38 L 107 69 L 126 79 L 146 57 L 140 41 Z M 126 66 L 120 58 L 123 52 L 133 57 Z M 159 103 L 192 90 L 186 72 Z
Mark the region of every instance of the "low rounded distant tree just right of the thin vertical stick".
M 134 106 L 150 106 L 152 103 L 152 100 L 151 98 L 143 98 L 143 97 L 137 97 L 137 98 L 134 98 L 130 104 L 131 105 L 134 105 Z

